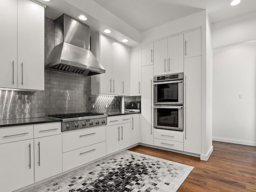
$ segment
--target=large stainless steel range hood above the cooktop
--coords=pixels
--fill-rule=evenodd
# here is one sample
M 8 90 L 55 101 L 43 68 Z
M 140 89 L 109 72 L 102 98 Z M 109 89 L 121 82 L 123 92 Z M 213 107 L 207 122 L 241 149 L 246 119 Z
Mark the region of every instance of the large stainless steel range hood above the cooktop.
M 63 14 L 54 21 L 55 47 L 44 68 L 91 76 L 105 73 L 90 52 L 90 27 Z

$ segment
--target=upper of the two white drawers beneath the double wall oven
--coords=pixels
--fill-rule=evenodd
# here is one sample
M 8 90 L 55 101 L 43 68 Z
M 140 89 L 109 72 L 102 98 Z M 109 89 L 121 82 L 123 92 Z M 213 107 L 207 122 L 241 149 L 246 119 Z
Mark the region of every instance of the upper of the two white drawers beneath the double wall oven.
M 183 132 L 155 128 L 154 138 L 183 142 Z

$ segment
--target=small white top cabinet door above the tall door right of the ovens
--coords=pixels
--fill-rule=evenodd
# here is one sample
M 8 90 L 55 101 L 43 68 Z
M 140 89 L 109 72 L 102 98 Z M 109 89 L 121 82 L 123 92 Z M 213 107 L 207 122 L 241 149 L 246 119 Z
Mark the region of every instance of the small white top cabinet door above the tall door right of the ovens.
M 202 29 L 184 33 L 184 58 L 202 55 Z

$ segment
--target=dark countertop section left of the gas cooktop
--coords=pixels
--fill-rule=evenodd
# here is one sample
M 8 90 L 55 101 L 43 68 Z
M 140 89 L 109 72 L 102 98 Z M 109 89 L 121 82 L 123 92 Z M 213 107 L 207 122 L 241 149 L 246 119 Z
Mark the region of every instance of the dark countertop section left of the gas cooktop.
M 24 119 L 6 119 L 0 120 L 0 128 L 8 126 L 20 126 L 38 123 L 51 123 L 51 122 L 61 122 L 62 120 L 50 119 L 46 117 L 38 118 L 24 118 Z

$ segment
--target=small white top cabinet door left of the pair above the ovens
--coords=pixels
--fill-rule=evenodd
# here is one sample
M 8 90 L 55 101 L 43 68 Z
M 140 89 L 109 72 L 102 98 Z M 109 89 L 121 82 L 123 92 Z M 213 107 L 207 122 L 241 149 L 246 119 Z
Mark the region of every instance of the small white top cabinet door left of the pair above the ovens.
M 152 65 L 153 63 L 153 43 L 141 46 L 141 66 Z

